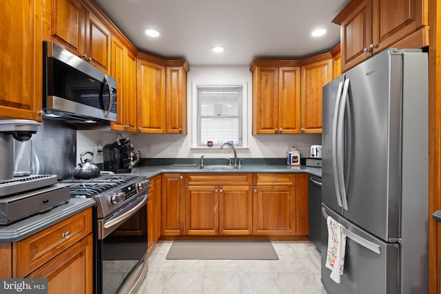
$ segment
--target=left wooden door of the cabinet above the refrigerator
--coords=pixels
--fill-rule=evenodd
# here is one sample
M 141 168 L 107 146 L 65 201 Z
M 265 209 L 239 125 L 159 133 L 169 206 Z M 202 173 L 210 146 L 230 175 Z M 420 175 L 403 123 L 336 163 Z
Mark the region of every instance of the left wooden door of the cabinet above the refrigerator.
M 362 0 L 349 11 L 349 14 L 343 16 L 345 19 L 340 28 L 342 72 L 372 55 L 372 1 Z M 385 14 L 384 17 L 388 16 Z

